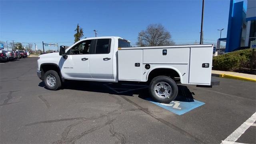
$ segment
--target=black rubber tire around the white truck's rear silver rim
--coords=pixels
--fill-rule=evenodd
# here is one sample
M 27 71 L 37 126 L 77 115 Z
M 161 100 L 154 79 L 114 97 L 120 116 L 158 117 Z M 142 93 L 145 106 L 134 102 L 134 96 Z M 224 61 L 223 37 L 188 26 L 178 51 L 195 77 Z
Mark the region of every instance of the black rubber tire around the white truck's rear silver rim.
M 155 90 L 155 86 L 159 83 L 167 83 L 166 85 L 169 85 L 171 87 L 171 90 L 170 90 L 170 95 L 168 95 L 168 92 L 166 93 L 168 96 L 165 96 L 165 97 L 162 97 L 160 98 L 160 96 L 158 96 L 157 93 L 157 90 Z M 168 88 L 170 88 L 169 86 L 166 86 Z M 164 90 L 164 89 L 163 89 Z M 150 82 L 150 85 L 149 85 L 149 93 L 150 93 L 150 96 L 156 101 L 156 102 L 160 102 L 160 103 L 170 103 L 172 102 L 177 94 L 178 94 L 178 86 L 176 84 L 176 82 L 174 82 L 174 80 L 172 80 L 172 78 L 168 77 L 168 76 L 157 76 L 155 78 L 153 78 Z

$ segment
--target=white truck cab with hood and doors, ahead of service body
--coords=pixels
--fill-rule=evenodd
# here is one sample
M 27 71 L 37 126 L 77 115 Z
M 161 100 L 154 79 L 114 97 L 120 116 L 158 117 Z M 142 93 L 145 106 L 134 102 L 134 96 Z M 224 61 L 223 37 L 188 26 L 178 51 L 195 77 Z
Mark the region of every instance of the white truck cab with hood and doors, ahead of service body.
M 65 56 L 59 53 L 39 56 L 38 71 L 42 72 L 46 66 L 52 65 L 58 67 L 62 78 L 67 80 L 118 82 L 118 44 L 130 47 L 130 42 L 120 37 L 82 39 L 66 48 Z

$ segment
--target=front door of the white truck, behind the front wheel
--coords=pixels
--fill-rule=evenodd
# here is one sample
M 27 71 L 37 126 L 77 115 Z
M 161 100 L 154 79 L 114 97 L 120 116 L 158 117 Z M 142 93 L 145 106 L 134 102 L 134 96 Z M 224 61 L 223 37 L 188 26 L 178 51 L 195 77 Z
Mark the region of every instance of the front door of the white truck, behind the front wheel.
M 92 52 L 91 44 L 94 40 L 84 40 L 70 48 L 66 53 L 68 58 L 64 59 L 61 73 L 67 79 L 88 79 L 90 74 L 89 62 Z

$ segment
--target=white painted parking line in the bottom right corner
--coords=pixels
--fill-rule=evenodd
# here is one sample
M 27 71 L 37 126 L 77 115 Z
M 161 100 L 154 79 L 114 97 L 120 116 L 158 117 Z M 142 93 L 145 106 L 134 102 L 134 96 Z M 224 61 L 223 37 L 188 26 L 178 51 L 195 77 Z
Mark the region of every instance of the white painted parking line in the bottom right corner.
M 230 134 L 221 144 L 235 144 L 236 140 L 244 134 L 244 132 L 256 121 L 256 112 L 248 118 L 241 126 L 239 126 L 232 134 Z

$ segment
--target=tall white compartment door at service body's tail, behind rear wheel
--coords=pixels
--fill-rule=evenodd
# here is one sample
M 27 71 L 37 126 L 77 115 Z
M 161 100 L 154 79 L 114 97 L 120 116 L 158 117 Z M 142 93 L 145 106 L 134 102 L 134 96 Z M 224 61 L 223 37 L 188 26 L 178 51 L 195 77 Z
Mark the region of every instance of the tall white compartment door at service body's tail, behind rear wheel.
M 191 47 L 189 84 L 211 84 L 213 47 Z

